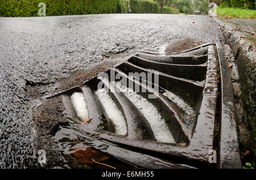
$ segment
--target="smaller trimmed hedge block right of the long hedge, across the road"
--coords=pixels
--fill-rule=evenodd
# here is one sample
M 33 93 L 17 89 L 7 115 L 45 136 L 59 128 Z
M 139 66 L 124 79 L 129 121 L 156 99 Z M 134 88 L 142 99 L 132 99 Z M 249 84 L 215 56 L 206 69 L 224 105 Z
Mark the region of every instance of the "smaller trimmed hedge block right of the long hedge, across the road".
M 159 13 L 159 5 L 153 0 L 130 0 L 131 13 Z

